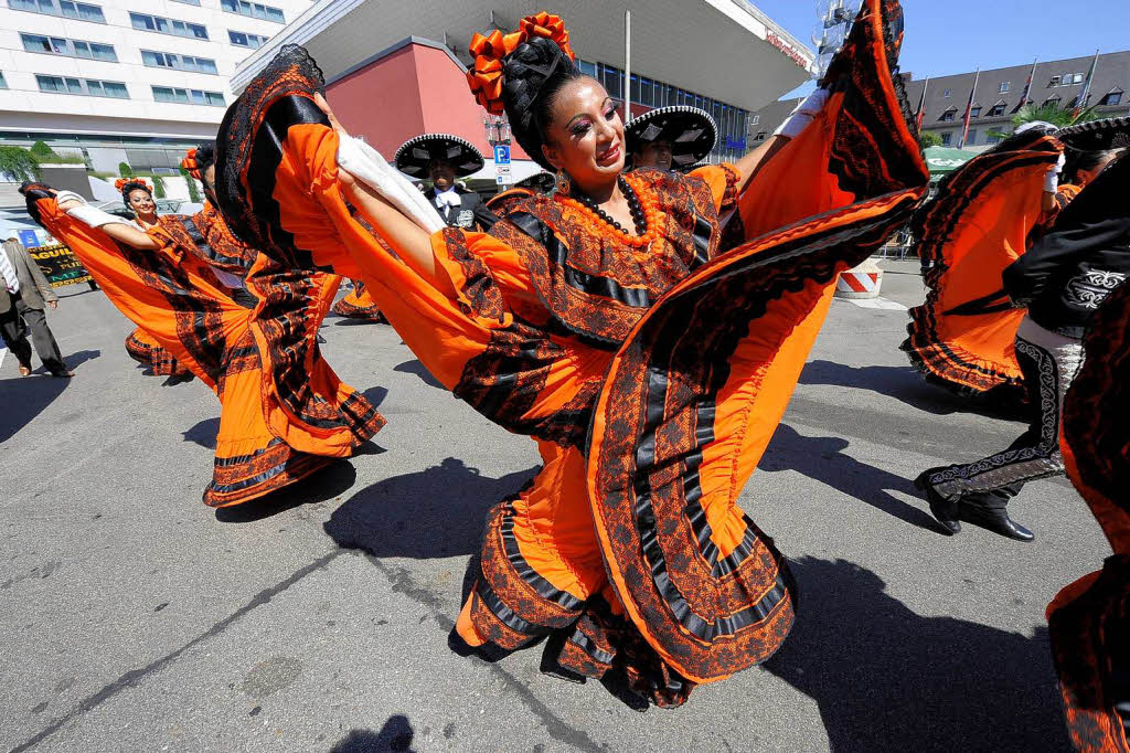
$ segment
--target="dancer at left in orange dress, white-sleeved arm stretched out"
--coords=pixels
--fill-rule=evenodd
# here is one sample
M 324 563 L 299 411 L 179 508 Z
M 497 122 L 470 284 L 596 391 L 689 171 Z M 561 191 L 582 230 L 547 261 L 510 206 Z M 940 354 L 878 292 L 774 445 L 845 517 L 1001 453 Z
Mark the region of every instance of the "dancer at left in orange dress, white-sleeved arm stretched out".
M 219 397 L 205 504 L 292 484 L 348 457 L 384 424 L 318 350 L 337 277 L 257 254 L 247 288 L 233 289 L 206 261 L 211 246 L 189 217 L 162 217 L 142 233 L 77 194 L 64 192 L 60 206 L 46 187 L 23 190 L 32 217 L 64 240 L 111 302 Z

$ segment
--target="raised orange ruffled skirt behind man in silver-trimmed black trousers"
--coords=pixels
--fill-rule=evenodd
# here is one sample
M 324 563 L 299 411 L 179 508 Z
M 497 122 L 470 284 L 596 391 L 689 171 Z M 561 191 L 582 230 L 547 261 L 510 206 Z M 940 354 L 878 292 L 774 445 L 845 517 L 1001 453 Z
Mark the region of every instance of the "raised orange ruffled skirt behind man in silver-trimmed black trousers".
M 1043 181 L 1063 146 L 1038 130 L 1014 136 L 945 178 L 914 217 L 927 298 L 911 309 L 902 349 L 925 376 L 964 395 L 1023 395 L 1014 308 L 1001 274 L 1043 215 Z

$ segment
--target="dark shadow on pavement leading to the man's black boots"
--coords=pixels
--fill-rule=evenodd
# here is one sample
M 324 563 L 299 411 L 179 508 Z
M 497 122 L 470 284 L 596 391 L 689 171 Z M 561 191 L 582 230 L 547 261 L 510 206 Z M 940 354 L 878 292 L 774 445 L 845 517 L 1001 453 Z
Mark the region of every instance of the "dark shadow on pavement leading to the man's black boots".
M 919 496 L 912 481 L 844 455 L 849 444 L 840 436 L 805 436 L 781 424 L 757 467 L 770 473 L 796 470 L 903 522 L 946 534 L 933 517 L 888 493 L 893 490 Z

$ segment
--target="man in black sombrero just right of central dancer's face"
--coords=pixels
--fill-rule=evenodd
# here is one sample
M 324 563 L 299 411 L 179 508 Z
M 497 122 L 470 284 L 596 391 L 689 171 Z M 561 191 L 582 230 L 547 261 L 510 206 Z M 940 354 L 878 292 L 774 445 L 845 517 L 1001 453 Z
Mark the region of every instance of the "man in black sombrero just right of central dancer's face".
M 649 110 L 624 127 L 633 167 L 688 172 L 718 144 L 718 126 L 705 110 L 671 105 Z

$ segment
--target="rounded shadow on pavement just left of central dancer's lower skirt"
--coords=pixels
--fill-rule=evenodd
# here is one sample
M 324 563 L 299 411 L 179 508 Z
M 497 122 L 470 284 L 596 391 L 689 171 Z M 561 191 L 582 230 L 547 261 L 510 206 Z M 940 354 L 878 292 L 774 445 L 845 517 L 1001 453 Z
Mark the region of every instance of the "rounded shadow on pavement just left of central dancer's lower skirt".
M 325 522 L 338 546 L 377 557 L 428 560 L 475 554 L 487 510 L 537 468 L 490 478 L 447 458 L 426 470 L 385 478 L 354 494 Z

